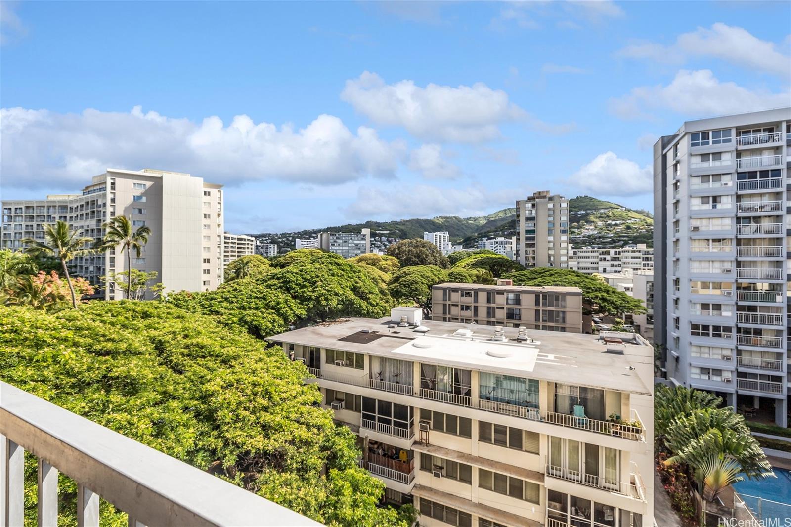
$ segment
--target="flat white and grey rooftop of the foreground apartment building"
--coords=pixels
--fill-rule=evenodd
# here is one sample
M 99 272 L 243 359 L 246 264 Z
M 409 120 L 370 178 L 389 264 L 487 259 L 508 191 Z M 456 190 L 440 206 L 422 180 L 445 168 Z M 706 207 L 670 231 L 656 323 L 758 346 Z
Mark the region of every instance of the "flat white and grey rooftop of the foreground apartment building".
M 269 340 L 651 395 L 653 347 L 634 333 L 618 334 L 624 342 L 617 343 L 528 330 L 528 340 L 520 342 L 517 328 L 504 328 L 502 341 L 492 339 L 494 326 L 424 320 L 421 328 L 428 331 L 399 327 L 389 317 L 351 318 Z

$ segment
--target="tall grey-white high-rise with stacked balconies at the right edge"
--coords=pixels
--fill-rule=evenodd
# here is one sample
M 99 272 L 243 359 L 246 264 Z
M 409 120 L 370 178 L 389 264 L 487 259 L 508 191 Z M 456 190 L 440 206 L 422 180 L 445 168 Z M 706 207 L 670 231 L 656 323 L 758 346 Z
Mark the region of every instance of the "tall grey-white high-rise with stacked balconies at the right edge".
M 791 108 L 654 145 L 654 340 L 667 377 L 787 423 Z

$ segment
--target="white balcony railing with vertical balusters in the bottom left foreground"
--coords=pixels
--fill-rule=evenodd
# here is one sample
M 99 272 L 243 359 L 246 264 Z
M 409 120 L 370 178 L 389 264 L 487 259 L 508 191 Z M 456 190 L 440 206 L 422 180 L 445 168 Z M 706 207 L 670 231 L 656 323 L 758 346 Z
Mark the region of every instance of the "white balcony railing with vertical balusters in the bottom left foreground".
M 25 453 L 39 459 L 38 525 L 58 523 L 58 476 L 78 485 L 78 525 L 99 498 L 129 525 L 321 525 L 199 468 L 0 382 L 2 525 L 25 525 Z

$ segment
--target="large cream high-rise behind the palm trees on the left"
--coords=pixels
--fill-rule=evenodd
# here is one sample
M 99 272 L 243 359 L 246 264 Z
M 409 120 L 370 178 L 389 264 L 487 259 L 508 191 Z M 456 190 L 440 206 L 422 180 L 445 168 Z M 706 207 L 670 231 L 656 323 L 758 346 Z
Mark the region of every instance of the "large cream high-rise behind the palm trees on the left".
M 168 291 L 213 290 L 222 281 L 222 185 L 201 177 L 164 170 L 108 169 L 81 194 L 49 195 L 47 199 L 2 201 L 2 247 L 21 250 L 22 239 L 44 241 L 44 225 L 58 220 L 71 229 L 100 239 L 102 224 L 123 214 L 133 229 L 148 226 L 151 236 L 132 267 L 156 271 Z M 127 271 L 120 248 L 72 262 L 74 274 L 89 280 L 104 298 L 123 298 L 115 283 L 101 289 L 102 277 Z

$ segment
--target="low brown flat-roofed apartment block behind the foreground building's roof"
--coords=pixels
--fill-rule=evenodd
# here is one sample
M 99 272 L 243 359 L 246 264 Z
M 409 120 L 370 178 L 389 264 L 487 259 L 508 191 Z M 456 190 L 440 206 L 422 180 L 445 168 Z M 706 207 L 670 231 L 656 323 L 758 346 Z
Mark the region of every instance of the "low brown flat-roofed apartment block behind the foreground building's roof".
M 442 322 L 581 333 L 582 290 L 446 282 L 431 288 L 431 317 Z M 589 321 L 590 325 L 590 321 Z

